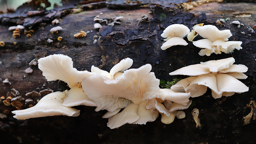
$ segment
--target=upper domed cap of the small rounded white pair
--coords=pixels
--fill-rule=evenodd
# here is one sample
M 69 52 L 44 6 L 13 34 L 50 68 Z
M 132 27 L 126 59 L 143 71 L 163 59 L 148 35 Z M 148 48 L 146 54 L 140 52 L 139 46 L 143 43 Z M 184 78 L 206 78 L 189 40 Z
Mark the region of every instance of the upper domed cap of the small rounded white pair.
M 167 41 L 173 37 L 183 38 L 188 33 L 190 33 L 190 29 L 187 26 L 183 24 L 172 24 L 164 30 L 161 37 L 166 38 L 165 41 Z

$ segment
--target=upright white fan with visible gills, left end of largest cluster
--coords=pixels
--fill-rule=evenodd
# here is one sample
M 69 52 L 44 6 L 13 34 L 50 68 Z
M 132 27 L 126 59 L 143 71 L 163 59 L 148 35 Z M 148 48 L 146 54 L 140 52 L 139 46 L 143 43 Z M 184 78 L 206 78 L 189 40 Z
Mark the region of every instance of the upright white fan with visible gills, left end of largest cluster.
M 38 68 L 43 71 L 43 76 L 47 81 L 62 80 L 70 88 L 81 82 L 83 78 L 94 74 L 88 71 L 77 71 L 76 68 L 73 68 L 72 59 L 63 54 L 54 54 L 38 59 Z

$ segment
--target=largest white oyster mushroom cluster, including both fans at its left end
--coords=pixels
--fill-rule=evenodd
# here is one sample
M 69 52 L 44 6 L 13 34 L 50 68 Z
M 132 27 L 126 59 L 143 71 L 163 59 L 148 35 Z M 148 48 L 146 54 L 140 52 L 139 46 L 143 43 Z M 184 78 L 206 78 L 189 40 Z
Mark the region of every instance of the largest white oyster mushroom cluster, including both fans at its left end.
M 14 118 L 28 119 L 43 116 L 78 116 L 71 106 L 97 106 L 95 111 L 107 110 L 103 118 L 113 129 L 126 123 L 146 124 L 162 114 L 163 123 L 172 123 L 175 116 L 184 118 L 191 104 L 190 93 L 160 89 L 159 79 L 152 66 L 131 68 L 133 60 L 121 60 L 110 72 L 92 66 L 91 71 L 77 71 L 70 57 L 54 54 L 38 60 L 38 68 L 48 81 L 62 80 L 70 90 L 45 95 L 35 106 L 13 111 Z M 123 109 L 124 108 L 124 109 Z M 119 113 L 119 111 L 123 109 Z

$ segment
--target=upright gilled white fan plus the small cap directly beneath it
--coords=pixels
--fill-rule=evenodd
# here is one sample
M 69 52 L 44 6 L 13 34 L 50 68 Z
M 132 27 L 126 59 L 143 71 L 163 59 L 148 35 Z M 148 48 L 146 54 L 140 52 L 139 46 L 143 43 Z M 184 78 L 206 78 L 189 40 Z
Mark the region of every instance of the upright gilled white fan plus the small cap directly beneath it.
M 96 106 L 83 92 L 81 81 L 94 73 L 78 71 L 73 68 L 73 61 L 63 54 L 54 54 L 38 59 L 38 68 L 43 71 L 47 81 L 62 80 L 71 88 L 64 99 L 63 106 Z

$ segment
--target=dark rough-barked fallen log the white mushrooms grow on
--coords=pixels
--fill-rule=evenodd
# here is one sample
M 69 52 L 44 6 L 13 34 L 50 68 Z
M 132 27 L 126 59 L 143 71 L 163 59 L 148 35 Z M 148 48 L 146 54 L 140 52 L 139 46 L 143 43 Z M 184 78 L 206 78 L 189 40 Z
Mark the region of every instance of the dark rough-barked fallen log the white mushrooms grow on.
M 152 3 L 159 4 L 161 1 Z M 183 2 L 183 1 L 181 1 Z M 184 119 L 175 119 L 173 123 L 165 125 L 160 118 L 146 125 L 126 124 L 119 129 L 111 130 L 107 127 L 107 119 L 102 115 L 106 111 L 95 112 L 94 107 L 76 106 L 81 110 L 78 117 L 52 116 L 44 118 L 32 118 L 17 120 L 13 118 L 11 111 L 13 106 L 5 106 L 0 103 L 0 113 L 6 109 L 10 111 L 7 118 L 0 119 L 1 144 L 52 144 L 52 143 L 103 143 L 103 144 L 132 144 L 132 143 L 173 143 L 173 144 L 219 144 L 219 143 L 255 143 L 255 123 L 251 120 L 249 125 L 243 125 L 243 116 L 250 109 L 246 104 L 255 100 L 255 59 L 256 59 L 256 34 L 248 31 L 249 27 L 256 23 L 256 3 L 209 3 L 203 4 L 189 12 L 182 8 L 174 7 L 168 2 L 163 6 L 148 4 L 140 1 L 135 3 L 96 2 L 92 4 L 77 5 L 84 11 L 72 14 L 73 3 L 66 2 L 63 7 L 45 11 L 39 15 L 27 17 L 29 10 L 35 10 L 32 5 L 19 7 L 15 13 L 0 15 L 0 41 L 5 42 L 0 47 L 0 79 L 9 78 L 11 85 L 0 83 L 0 96 L 7 97 L 7 93 L 14 88 L 24 99 L 31 98 L 33 102 L 25 103 L 21 100 L 22 109 L 30 104 L 35 105 L 41 97 L 29 97 L 25 94 L 33 90 L 39 92 L 47 88 L 54 91 L 64 91 L 67 86 L 60 81 L 47 82 L 37 66 L 29 66 L 29 62 L 35 58 L 34 54 L 40 52 L 50 54 L 65 54 L 73 59 L 74 67 L 78 70 L 88 70 L 92 65 L 109 71 L 114 64 L 121 59 L 130 57 L 134 63 L 132 68 L 138 68 L 144 64 L 151 64 L 152 71 L 160 80 L 172 81 L 173 78 L 186 78 L 186 76 L 169 76 L 168 73 L 183 66 L 199 64 L 200 61 L 223 59 L 234 57 L 235 64 L 244 64 L 249 69 L 245 73 L 248 78 L 241 80 L 249 87 L 249 92 L 234 94 L 231 97 L 213 99 L 207 91 L 201 97 L 191 98 L 192 105 L 185 110 L 187 116 Z M 150 7 L 150 8 L 149 8 Z M 172 8 L 170 8 L 172 7 Z M 38 10 L 38 9 L 37 9 Z M 40 11 L 40 10 L 39 10 Z M 148 12 L 152 11 L 152 14 Z M 93 28 L 93 18 L 113 21 L 114 18 L 123 16 L 120 25 L 113 27 L 102 25 L 97 31 Z M 235 17 L 235 14 L 251 13 L 250 17 Z M 143 15 L 148 20 L 138 22 Z M 164 38 L 162 31 L 171 24 L 184 24 L 192 29 L 198 23 L 217 26 L 216 20 L 230 18 L 230 21 L 239 20 L 244 24 L 241 28 L 227 21 L 225 26 L 219 26 L 220 30 L 230 29 L 233 34 L 229 40 L 242 41 L 242 50 L 235 50 L 231 54 L 211 54 L 210 57 L 199 56 L 199 48 L 192 42 L 187 46 L 174 46 L 165 51 L 160 47 Z M 57 26 L 62 26 L 59 33 L 50 33 L 54 27 L 51 21 L 61 18 L 63 21 Z M 23 24 L 26 28 L 35 31 L 30 38 L 21 34 L 20 38 L 12 37 L 8 31 L 9 26 Z M 85 38 L 74 38 L 79 31 L 90 31 Z M 94 36 L 97 43 L 93 43 Z M 57 38 L 62 36 L 62 41 Z M 96 36 L 95 36 L 96 37 Z M 51 38 L 52 43 L 47 43 Z M 195 40 L 199 40 L 197 37 Z M 17 42 L 14 45 L 13 42 Z M 28 67 L 33 73 L 24 73 Z M 1 81 L 2 81 L 1 80 Z M 201 130 L 196 128 L 191 111 L 197 108 L 200 112 Z

